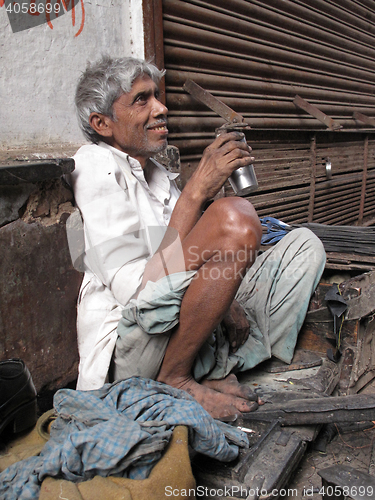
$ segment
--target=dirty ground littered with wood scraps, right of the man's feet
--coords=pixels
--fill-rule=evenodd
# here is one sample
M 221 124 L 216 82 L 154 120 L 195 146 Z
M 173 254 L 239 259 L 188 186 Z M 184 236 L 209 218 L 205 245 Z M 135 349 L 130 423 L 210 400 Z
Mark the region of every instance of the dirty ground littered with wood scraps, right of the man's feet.
M 371 397 L 375 395 L 372 341 L 375 273 L 358 274 L 354 278 L 345 275 L 342 282 L 338 281 L 339 286 L 332 285 L 332 281 L 335 283 L 338 277 L 333 276 L 333 280 L 329 278 L 328 283 L 319 285 L 314 294 L 300 333 L 295 360 L 292 362 L 294 366 L 287 367 L 271 360 L 239 378 L 261 395 L 266 402 L 262 409 L 266 406 L 276 408 L 278 403 L 288 404 L 292 399 L 311 403 L 308 401 L 311 398 L 320 401 L 325 398 L 326 402 L 327 396 L 331 395 L 339 396 L 340 400 L 342 397 L 346 402 L 350 401 L 352 395 L 361 395 L 361 401 L 369 403 L 369 413 L 359 412 L 353 418 L 351 408 L 338 423 L 332 423 L 332 419 L 331 423 L 326 423 L 330 420 L 326 412 L 324 423 L 284 427 L 276 425 L 274 428 L 272 422 L 260 423 L 252 418 L 236 422 L 236 425 L 250 430 L 248 437 L 252 451 L 247 455 L 246 452 L 242 456 L 240 454 L 240 459 L 231 467 L 201 460 L 200 457 L 194 458 L 193 470 L 198 486 L 203 488 L 200 491 L 205 493 L 203 498 L 344 498 L 332 496 L 332 491 L 335 491 L 335 484 L 348 486 L 345 482 L 337 483 L 337 479 L 334 479 L 336 483 L 326 482 L 327 477 L 332 479 L 334 473 L 332 469 L 327 469 L 337 465 L 351 467 L 351 474 L 366 473 L 373 476 L 373 479 L 359 479 L 355 487 L 351 486 L 347 490 L 352 496 L 347 495 L 345 498 L 375 497 L 375 425 L 372 422 L 375 414 L 371 408 Z M 340 312 L 335 317 L 335 313 L 327 307 L 325 298 L 328 290 L 331 290 L 331 294 L 337 291 L 339 301 L 344 298 L 347 302 L 345 321 L 340 319 Z M 317 403 L 318 399 L 315 399 Z M 309 406 L 311 404 L 306 405 L 307 410 Z M 306 418 L 307 410 L 301 415 L 303 418 Z M 253 416 L 259 415 L 258 412 Z M 332 484 L 333 490 L 327 490 L 327 485 Z M 258 496 L 257 492 L 261 492 L 262 488 L 263 494 Z M 265 494 L 266 490 L 268 494 Z M 324 496 L 327 491 L 331 496 Z

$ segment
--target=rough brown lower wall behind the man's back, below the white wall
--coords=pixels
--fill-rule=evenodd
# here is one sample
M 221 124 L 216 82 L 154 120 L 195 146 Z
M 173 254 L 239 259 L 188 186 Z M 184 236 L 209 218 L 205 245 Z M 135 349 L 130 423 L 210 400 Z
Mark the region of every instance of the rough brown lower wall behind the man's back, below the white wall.
M 1 359 L 23 359 L 44 392 L 77 377 L 82 276 L 67 245 L 71 191 L 61 178 L 28 186 L 22 217 L 0 229 L 0 353 Z

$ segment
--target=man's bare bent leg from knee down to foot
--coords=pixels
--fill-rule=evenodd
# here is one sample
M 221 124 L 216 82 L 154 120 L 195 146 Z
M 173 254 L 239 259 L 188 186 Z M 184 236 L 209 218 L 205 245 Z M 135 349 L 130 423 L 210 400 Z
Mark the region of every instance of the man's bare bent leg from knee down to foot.
M 220 210 L 226 208 L 226 213 Z M 181 304 L 180 322 L 169 341 L 157 380 L 190 393 L 214 418 L 257 408 L 249 389 L 227 377 L 199 384 L 191 375 L 203 343 L 230 307 L 246 269 L 255 259 L 261 228 L 244 200 L 227 201 L 207 210 L 183 241 L 187 269 L 197 274 Z M 219 212 L 218 212 L 219 210 Z M 207 260 L 189 260 L 204 251 Z

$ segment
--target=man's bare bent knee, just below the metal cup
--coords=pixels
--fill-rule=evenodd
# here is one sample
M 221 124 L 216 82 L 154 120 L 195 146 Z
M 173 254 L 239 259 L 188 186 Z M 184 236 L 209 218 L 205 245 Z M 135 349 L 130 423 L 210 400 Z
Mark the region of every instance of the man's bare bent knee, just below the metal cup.
M 216 200 L 207 210 L 217 224 L 220 234 L 228 239 L 230 247 L 257 250 L 262 226 L 253 205 L 243 198 L 229 197 Z

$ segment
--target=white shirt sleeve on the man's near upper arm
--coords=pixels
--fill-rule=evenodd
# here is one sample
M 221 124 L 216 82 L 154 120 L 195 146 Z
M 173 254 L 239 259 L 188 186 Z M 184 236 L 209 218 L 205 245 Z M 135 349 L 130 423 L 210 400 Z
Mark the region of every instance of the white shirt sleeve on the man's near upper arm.
M 83 146 L 74 159 L 71 183 L 83 218 L 85 267 L 125 305 L 150 257 L 137 206 L 110 151 Z

